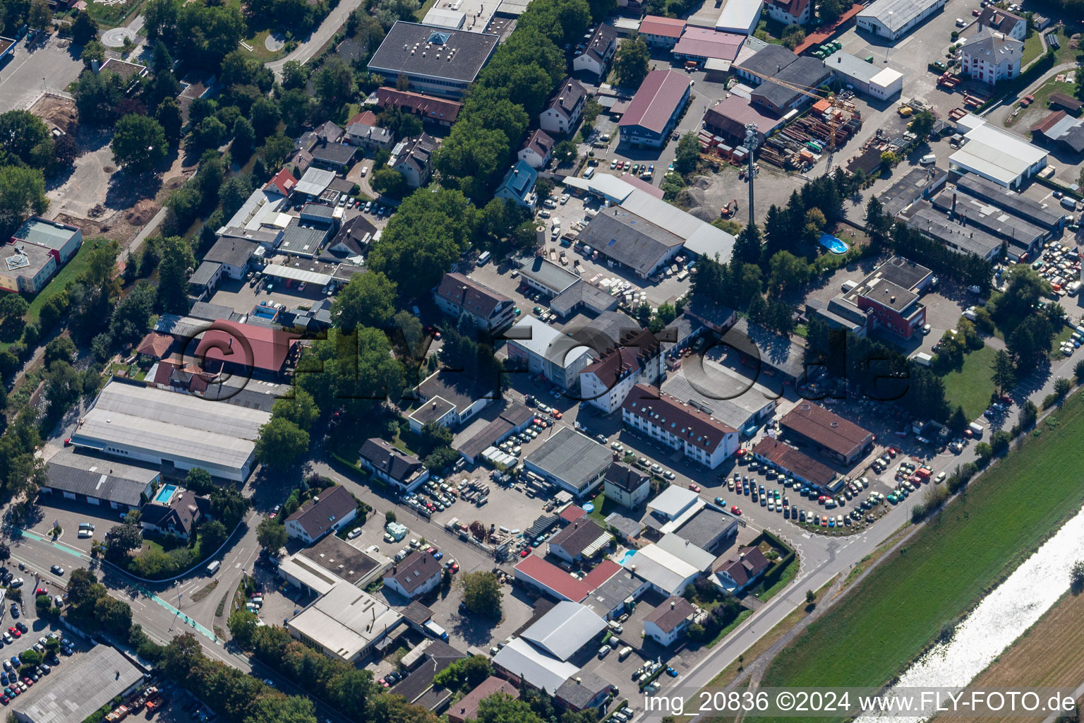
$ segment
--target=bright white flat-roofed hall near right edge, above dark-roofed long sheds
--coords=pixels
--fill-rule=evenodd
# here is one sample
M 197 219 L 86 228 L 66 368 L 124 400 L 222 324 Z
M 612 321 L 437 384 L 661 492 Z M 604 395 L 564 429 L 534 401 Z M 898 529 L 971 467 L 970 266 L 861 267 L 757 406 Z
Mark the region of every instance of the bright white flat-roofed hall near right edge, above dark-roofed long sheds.
M 964 146 L 949 156 L 949 170 L 971 172 L 1007 189 L 1019 189 L 1047 165 L 1047 152 L 1016 133 L 968 114 L 956 121 Z

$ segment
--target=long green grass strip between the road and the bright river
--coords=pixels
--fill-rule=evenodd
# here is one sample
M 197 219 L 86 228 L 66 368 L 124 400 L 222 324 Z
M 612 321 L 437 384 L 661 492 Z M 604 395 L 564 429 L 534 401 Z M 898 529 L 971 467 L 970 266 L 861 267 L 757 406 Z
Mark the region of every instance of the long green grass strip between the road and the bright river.
M 1084 500 L 1075 395 L 775 658 L 763 686 L 880 686 L 1015 569 Z M 1035 490 L 1042 489 L 1042 494 Z M 795 719 L 787 719 L 793 723 Z

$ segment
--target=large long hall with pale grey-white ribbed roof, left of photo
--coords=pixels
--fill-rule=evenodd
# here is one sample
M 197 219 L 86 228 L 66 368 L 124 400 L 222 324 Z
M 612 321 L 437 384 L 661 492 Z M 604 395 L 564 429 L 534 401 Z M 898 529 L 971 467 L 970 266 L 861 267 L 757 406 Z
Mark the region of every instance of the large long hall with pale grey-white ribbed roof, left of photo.
M 109 380 L 72 435 L 76 447 L 244 481 L 271 415 L 238 404 Z

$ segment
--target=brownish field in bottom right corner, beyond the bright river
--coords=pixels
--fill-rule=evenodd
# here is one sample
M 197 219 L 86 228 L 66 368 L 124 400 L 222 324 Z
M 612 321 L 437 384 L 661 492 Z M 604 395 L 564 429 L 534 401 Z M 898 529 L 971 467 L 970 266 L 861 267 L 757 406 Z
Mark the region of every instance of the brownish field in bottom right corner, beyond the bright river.
M 971 683 L 971 688 L 1076 687 L 1084 681 L 1084 595 L 1066 594 Z M 953 723 L 1040 723 L 1046 718 L 953 716 Z

